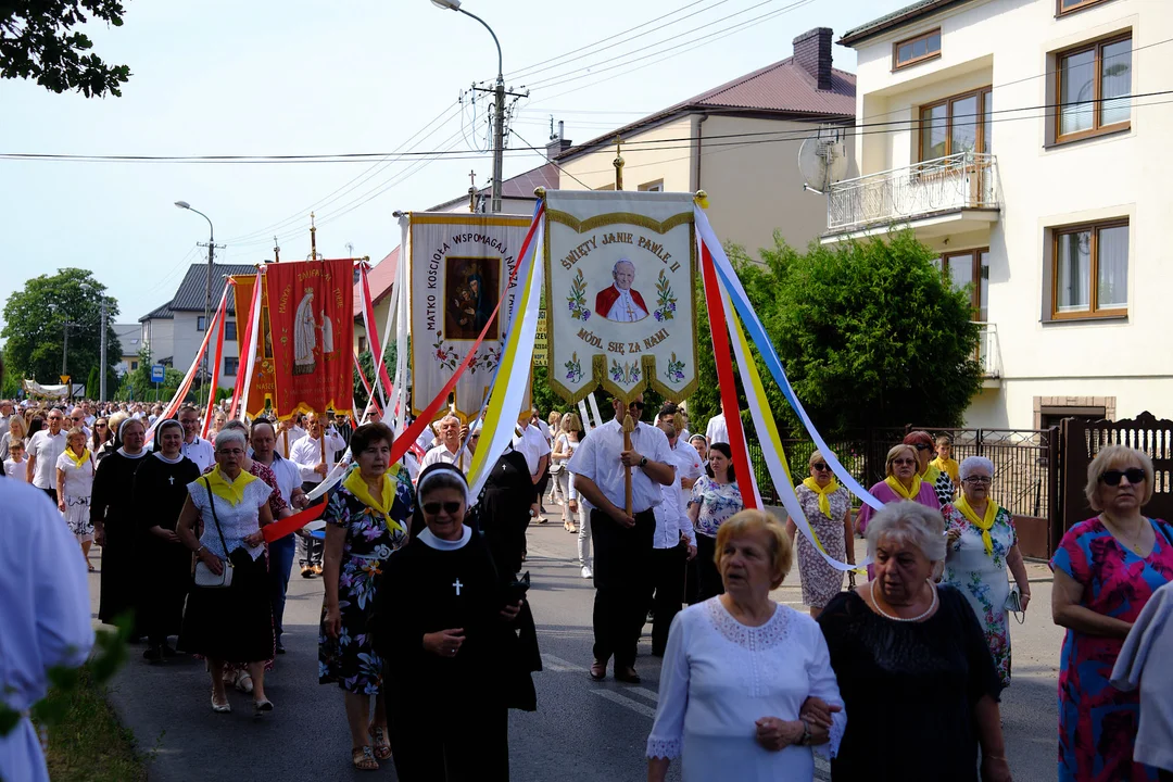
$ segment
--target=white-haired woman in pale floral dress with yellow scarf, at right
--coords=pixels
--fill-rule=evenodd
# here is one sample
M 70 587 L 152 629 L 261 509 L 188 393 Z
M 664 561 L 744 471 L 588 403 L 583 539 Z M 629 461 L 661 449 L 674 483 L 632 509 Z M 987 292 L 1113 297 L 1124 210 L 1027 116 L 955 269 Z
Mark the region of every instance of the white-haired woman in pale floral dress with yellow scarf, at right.
M 1026 610 L 1030 583 L 1026 565 L 1018 550 L 1010 511 L 994 502 L 994 462 L 984 456 L 970 456 L 961 463 L 962 495 L 945 505 L 948 552 L 942 580 L 952 584 L 974 607 L 982 625 L 985 642 L 994 655 L 1002 686 L 1010 685 L 1010 625 L 1008 613 Z M 1006 567 L 1013 573 L 1018 599 L 1012 600 Z

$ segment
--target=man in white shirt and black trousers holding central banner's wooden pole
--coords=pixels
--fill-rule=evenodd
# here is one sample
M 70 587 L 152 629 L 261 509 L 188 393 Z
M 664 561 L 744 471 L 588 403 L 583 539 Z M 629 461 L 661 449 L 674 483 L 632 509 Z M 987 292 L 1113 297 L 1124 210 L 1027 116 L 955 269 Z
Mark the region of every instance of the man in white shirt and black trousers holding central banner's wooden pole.
M 590 506 L 595 543 L 595 662 L 590 676 L 601 681 L 615 657 L 615 678 L 639 684 L 636 646 L 647 611 L 656 517 L 664 501 L 662 487 L 676 484 L 672 450 L 664 433 L 638 423 L 643 394 L 630 404 L 612 401 L 615 419 L 591 429 L 575 449 L 567 469 L 575 489 Z M 624 449 L 623 420 L 631 416 L 631 449 Z M 626 510 L 624 470 L 631 470 L 631 512 Z

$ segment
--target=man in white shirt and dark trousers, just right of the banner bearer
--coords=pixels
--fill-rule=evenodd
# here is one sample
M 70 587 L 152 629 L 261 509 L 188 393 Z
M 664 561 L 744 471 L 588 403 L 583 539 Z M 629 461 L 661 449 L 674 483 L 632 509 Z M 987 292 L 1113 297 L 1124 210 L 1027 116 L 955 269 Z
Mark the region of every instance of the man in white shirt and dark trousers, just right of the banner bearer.
M 664 417 L 663 414 L 660 417 Z M 691 474 L 693 471 L 692 457 L 686 451 L 676 449 L 682 442 L 676 436 L 676 429 L 663 420 L 659 429 L 667 437 L 667 443 L 672 448 L 672 460 L 676 463 L 678 478 L 686 472 Z M 684 444 L 687 446 L 687 443 Z M 689 449 L 692 450 L 691 447 Z M 690 485 L 691 483 L 690 481 Z M 672 619 L 680 612 L 680 605 L 684 603 L 684 563 L 691 562 L 697 556 L 697 533 L 692 529 L 692 522 L 684 512 L 685 505 L 678 487 L 663 487 L 663 492 L 664 502 L 653 509 L 656 537 L 652 543 L 651 583 L 647 592 L 647 605 L 655 617 L 652 620 L 652 654 L 656 657 L 664 657 L 669 627 L 672 626 Z

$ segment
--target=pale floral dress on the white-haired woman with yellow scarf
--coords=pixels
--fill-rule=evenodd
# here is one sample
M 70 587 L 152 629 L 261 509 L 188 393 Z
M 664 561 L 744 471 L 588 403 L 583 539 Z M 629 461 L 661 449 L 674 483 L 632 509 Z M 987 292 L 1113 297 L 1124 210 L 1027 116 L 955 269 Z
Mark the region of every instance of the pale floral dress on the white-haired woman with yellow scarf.
M 990 528 L 994 552 L 985 553 L 982 530 L 965 518 L 952 505 L 944 505 L 945 531 L 957 530 L 961 537 L 945 552 L 945 571 L 942 582 L 952 584 L 965 596 L 982 625 L 985 642 L 994 655 L 994 667 L 1002 679 L 1002 686 L 1010 684 L 1010 624 L 1006 598 L 1010 582 L 1006 578 L 1006 553 L 1018 543 L 1018 533 L 1010 511 L 998 508 Z

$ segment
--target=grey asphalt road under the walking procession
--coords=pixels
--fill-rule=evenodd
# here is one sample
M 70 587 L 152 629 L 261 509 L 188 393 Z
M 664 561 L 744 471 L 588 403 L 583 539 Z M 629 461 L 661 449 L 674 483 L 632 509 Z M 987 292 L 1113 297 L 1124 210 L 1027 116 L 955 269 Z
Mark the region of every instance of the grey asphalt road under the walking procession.
M 94 563 L 101 566 L 100 549 Z M 515 781 L 642 780 L 644 742 L 656 709 L 659 660 L 650 657 L 650 638 L 640 642 L 638 687 L 589 680 L 591 662 L 591 583 L 574 562 L 575 536 L 550 523 L 529 531 L 533 586 L 530 604 L 538 626 L 545 669 L 535 674 L 538 710 L 511 712 L 511 778 Z M 1045 567 L 1032 567 L 1044 579 Z M 802 610 L 798 573 L 774 598 Z M 793 586 L 791 586 L 793 585 Z M 97 611 L 99 577 L 90 577 Z M 1008 757 L 1018 782 L 1056 778 L 1056 679 L 1062 633 L 1050 620 L 1050 583 L 1032 584 L 1035 605 L 1025 625 L 1012 627 L 1011 687 L 1003 695 Z M 201 780 L 377 780 L 395 778 L 391 763 L 375 773 L 351 768 L 350 735 L 335 686 L 318 685 L 320 579 L 290 583 L 285 646 L 265 688 L 276 710 L 256 720 L 251 698 L 232 693 L 233 712 L 213 714 L 203 665 L 182 659 L 150 666 L 133 647 L 131 660 L 111 687 L 110 699 L 123 723 L 148 755 L 151 782 Z M 96 619 L 95 619 L 96 621 Z M 645 628 L 650 631 L 650 626 Z M 454 712 L 438 729 L 475 730 Z M 679 780 L 674 767 L 670 780 Z M 826 778 L 820 774 L 820 778 Z

